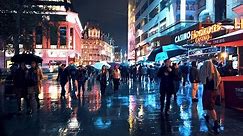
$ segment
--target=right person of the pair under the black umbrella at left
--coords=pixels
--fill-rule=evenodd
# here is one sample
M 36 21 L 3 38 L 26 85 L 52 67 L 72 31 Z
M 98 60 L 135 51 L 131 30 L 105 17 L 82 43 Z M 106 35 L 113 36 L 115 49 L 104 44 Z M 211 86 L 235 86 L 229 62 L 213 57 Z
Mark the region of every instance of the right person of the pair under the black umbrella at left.
M 41 91 L 43 73 L 42 70 L 38 67 L 35 61 L 31 62 L 31 68 L 27 71 L 27 90 L 28 90 L 28 97 L 30 100 L 31 111 L 36 111 L 40 108 L 40 99 L 39 94 Z M 36 103 L 36 105 L 35 105 Z

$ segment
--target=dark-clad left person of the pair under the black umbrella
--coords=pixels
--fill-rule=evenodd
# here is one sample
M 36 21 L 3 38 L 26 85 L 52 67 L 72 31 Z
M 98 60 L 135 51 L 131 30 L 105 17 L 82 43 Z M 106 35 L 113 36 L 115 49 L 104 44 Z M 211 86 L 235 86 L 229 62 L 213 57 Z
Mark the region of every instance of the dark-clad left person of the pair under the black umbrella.
M 27 111 L 30 109 L 29 99 L 27 97 L 27 83 L 26 83 L 27 68 L 25 63 L 22 62 L 13 76 L 14 90 L 17 96 L 18 112 L 21 112 L 21 98 L 23 97 L 26 102 Z

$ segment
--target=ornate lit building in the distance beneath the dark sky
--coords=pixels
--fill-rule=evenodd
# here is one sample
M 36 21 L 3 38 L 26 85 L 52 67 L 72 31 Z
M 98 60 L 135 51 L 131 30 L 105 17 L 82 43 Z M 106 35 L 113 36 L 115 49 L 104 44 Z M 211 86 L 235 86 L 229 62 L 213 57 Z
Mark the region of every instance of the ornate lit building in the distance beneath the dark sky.
M 114 61 L 113 40 L 102 33 L 97 25 L 87 24 L 81 40 L 81 64 L 92 65 L 99 61 Z

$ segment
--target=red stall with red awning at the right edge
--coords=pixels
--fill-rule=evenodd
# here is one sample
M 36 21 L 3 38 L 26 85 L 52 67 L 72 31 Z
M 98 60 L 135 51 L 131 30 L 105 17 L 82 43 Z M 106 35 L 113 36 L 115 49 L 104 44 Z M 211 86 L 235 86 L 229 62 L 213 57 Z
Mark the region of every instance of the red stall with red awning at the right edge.
M 208 43 L 218 47 L 237 48 L 239 76 L 226 76 L 222 80 L 225 106 L 243 111 L 243 30 L 214 38 Z

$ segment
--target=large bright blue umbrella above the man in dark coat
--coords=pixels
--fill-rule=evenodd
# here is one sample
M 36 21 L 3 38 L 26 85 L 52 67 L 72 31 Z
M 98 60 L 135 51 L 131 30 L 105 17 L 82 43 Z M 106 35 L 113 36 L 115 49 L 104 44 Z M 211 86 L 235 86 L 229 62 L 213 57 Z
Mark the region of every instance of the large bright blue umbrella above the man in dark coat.
M 148 56 L 148 61 L 155 61 L 156 60 L 156 56 L 161 53 L 161 52 L 166 52 L 163 54 L 160 54 L 157 56 L 157 58 L 159 56 L 162 55 L 162 58 L 171 58 L 171 57 L 175 57 L 178 55 L 181 55 L 183 53 L 185 53 L 186 49 L 178 46 L 176 44 L 169 44 L 169 45 L 165 45 L 165 46 L 160 46 L 156 49 L 154 49 Z M 160 57 L 161 58 L 161 57 Z

